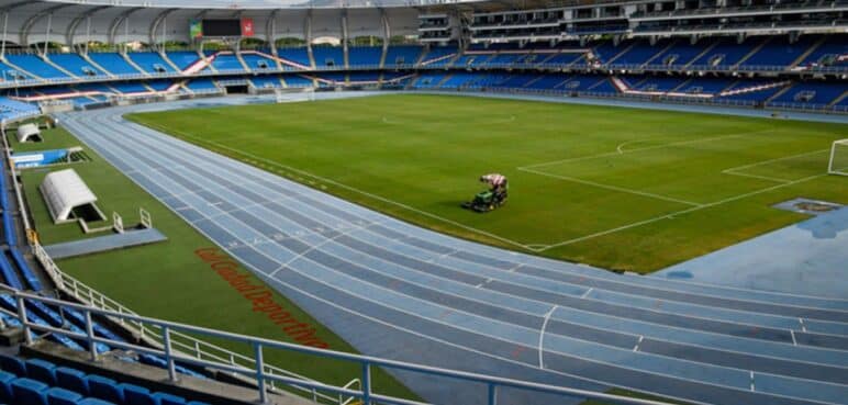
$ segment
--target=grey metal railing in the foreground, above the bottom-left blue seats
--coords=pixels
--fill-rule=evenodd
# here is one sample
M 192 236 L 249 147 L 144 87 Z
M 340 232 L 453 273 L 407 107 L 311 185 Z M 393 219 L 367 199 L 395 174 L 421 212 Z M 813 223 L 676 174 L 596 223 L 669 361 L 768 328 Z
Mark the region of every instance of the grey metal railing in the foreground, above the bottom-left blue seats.
M 436 378 L 453 380 L 455 382 L 469 382 L 469 383 L 480 384 L 486 387 L 487 404 L 489 405 L 498 404 L 498 393 L 503 389 L 521 390 L 521 391 L 527 391 L 527 392 L 538 393 L 538 394 L 561 395 L 561 396 L 574 397 L 574 398 L 600 400 L 600 401 L 606 401 L 610 403 L 625 404 L 625 405 L 670 405 L 665 402 L 652 401 L 652 400 L 640 400 L 640 398 L 612 395 L 612 394 L 599 393 L 599 392 L 587 391 L 587 390 L 539 384 L 534 382 L 512 380 L 512 379 L 484 375 L 484 374 L 478 374 L 478 373 L 471 373 L 471 372 L 465 372 L 465 371 L 442 369 L 442 368 L 414 364 L 414 363 L 409 363 L 403 361 L 388 360 L 388 359 L 381 359 L 381 358 L 369 357 L 369 356 L 353 355 L 353 353 L 346 353 L 346 352 L 327 350 L 327 349 L 317 349 L 317 348 L 312 348 L 308 346 L 299 346 L 294 344 L 284 344 L 280 341 L 269 340 L 269 339 L 263 339 L 257 337 L 250 337 L 245 335 L 202 328 L 198 326 L 185 325 L 185 324 L 179 324 L 179 323 L 174 323 L 168 320 L 149 318 L 149 317 L 138 316 L 134 314 L 127 314 L 124 312 L 115 312 L 115 311 L 80 305 L 80 304 L 60 301 L 56 299 L 44 297 L 36 294 L 20 292 L 20 291 L 10 289 L 8 286 L 2 286 L 2 293 L 10 295 L 18 303 L 18 313 L 12 313 L 9 311 L 3 311 L 3 313 L 9 315 L 10 317 L 18 319 L 21 323 L 27 345 L 33 344 L 33 341 L 36 339 L 35 337 L 36 334 L 34 334 L 35 331 L 35 333 L 38 333 L 40 336 L 58 334 L 58 335 L 67 336 L 72 339 L 85 341 L 86 342 L 85 347 L 88 348 L 89 355 L 92 360 L 97 360 L 99 357 L 97 352 L 96 344 L 103 344 L 119 349 L 132 350 L 141 353 L 157 356 L 166 361 L 167 369 L 168 369 L 168 378 L 171 382 L 176 382 L 178 379 L 178 374 L 176 371 L 177 363 L 224 371 L 224 372 L 242 375 L 244 378 L 253 380 L 254 383 L 256 384 L 255 386 L 257 389 L 259 401 L 261 403 L 268 402 L 269 389 L 271 387 L 270 384 L 276 383 L 276 384 L 289 385 L 289 386 L 300 386 L 301 389 L 305 389 L 312 392 L 331 393 L 331 394 L 323 394 L 327 397 L 337 396 L 338 400 L 346 398 L 344 401 L 338 402 L 341 405 L 350 404 L 355 401 L 361 401 L 361 403 L 365 405 L 370 405 L 370 404 L 424 405 L 426 404 L 419 401 L 411 401 L 411 400 L 405 400 L 397 396 L 383 395 L 375 392 L 373 385 L 372 385 L 373 380 L 371 376 L 371 372 L 375 367 L 379 367 L 382 369 L 404 371 L 404 372 L 417 374 L 421 376 L 428 376 L 428 378 L 436 376 Z M 86 324 L 85 324 L 85 327 L 82 328 L 85 333 L 76 333 L 76 331 L 56 328 L 53 326 L 30 322 L 27 317 L 30 310 L 27 310 L 26 305 L 24 305 L 25 302 L 41 302 L 45 305 L 58 307 L 62 310 L 79 311 L 85 318 Z M 93 328 L 93 320 L 92 320 L 96 316 L 102 316 L 102 317 L 108 317 L 110 319 L 115 319 L 116 322 L 122 324 L 140 325 L 140 327 L 143 328 L 144 330 L 150 330 L 150 331 L 156 330 L 156 334 L 158 338 L 163 341 L 163 345 L 159 348 L 150 348 L 150 347 L 138 346 L 138 345 L 134 345 L 125 341 L 109 339 L 107 337 L 97 336 L 93 331 L 94 328 Z M 196 358 L 192 356 L 187 356 L 181 350 L 179 350 L 179 348 L 177 347 L 177 342 L 175 340 L 175 337 L 178 337 L 185 334 L 200 335 L 209 338 L 226 340 L 230 342 L 247 345 L 253 348 L 256 362 L 253 368 L 246 368 L 241 365 L 233 365 L 230 362 L 220 361 L 217 359 L 202 359 L 202 358 Z M 268 350 L 282 350 L 282 351 L 292 352 L 292 353 L 313 356 L 315 358 L 324 358 L 324 359 L 337 360 L 339 362 L 354 363 L 360 370 L 360 375 L 358 380 L 352 381 L 350 383 L 347 383 L 345 385 L 333 385 L 333 384 L 322 383 L 313 380 L 304 380 L 304 379 L 300 379 L 300 378 L 295 378 L 287 374 L 280 374 L 269 369 L 267 364 L 265 364 L 263 359 L 264 359 L 264 355 Z

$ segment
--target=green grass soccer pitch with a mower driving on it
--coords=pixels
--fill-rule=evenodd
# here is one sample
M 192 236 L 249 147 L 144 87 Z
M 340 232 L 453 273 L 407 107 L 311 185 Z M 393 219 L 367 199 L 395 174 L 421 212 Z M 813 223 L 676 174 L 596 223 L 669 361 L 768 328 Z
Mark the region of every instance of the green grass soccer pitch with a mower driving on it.
M 649 272 L 848 203 L 837 124 L 450 95 L 380 95 L 130 119 L 460 237 Z M 501 172 L 510 202 L 460 209 Z

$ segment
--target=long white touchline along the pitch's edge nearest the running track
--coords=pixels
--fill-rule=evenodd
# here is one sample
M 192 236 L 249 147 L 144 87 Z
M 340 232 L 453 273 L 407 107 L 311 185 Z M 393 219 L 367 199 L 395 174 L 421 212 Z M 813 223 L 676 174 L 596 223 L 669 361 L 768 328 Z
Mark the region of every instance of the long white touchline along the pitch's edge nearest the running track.
M 140 125 L 140 124 L 136 124 L 136 125 Z M 159 125 L 156 125 L 156 124 L 149 124 L 149 123 L 147 123 L 147 124 L 145 124 L 145 125 L 148 125 L 148 126 L 150 126 L 150 127 L 154 127 L 155 130 L 157 130 L 158 132 L 160 132 L 163 135 L 166 135 L 166 136 L 167 136 L 167 134 L 168 134 L 168 131 L 169 131 L 169 130 L 167 130 L 167 128 L 164 128 L 164 127 L 161 127 L 161 126 L 159 126 Z M 249 157 L 249 158 L 252 158 L 252 159 L 256 159 L 256 160 L 259 160 L 259 161 L 264 161 L 264 162 L 266 162 L 266 164 L 268 164 L 268 165 L 271 165 L 271 166 L 276 166 L 276 167 L 279 167 L 279 168 L 282 168 L 282 169 L 286 169 L 286 170 L 290 170 L 290 171 L 293 171 L 293 172 L 300 173 L 300 175 L 302 175 L 302 176 L 308 176 L 308 177 L 311 177 L 311 178 L 313 178 L 313 179 L 317 179 L 317 180 L 320 180 L 320 181 L 323 181 L 323 182 L 325 182 L 325 183 L 328 183 L 328 184 L 333 184 L 333 185 L 335 185 L 335 187 L 338 187 L 338 188 L 342 188 L 342 189 L 345 189 L 345 190 L 349 190 L 349 191 L 353 191 L 353 192 L 356 192 L 356 193 L 359 193 L 359 194 L 366 195 L 366 196 L 368 196 L 368 198 L 371 198 L 371 199 L 375 199 L 375 200 L 378 200 L 378 201 L 381 201 L 381 202 L 384 202 L 384 203 L 388 203 L 388 204 L 392 204 L 392 205 L 394 205 L 394 206 L 399 206 L 399 207 L 401 207 L 401 209 L 404 209 L 404 210 L 408 210 L 408 211 L 414 212 L 414 213 L 416 213 L 416 214 L 421 214 L 421 215 L 427 216 L 427 217 L 429 217 L 429 218 L 433 218 L 433 220 L 442 221 L 442 222 L 444 222 L 444 223 L 447 223 L 447 224 L 450 224 L 450 225 L 454 225 L 454 226 L 460 227 L 460 228 L 462 228 L 462 229 L 466 229 L 466 230 L 470 230 L 470 232 L 472 232 L 472 233 L 476 233 L 476 234 L 479 234 L 479 235 L 488 236 L 488 237 L 490 237 L 490 238 L 492 238 L 492 239 L 495 239 L 495 240 L 500 240 L 500 241 L 502 241 L 502 243 L 505 243 L 505 244 L 509 244 L 509 245 L 512 245 L 512 246 L 517 246 L 517 247 L 521 247 L 521 248 L 523 248 L 523 249 L 526 249 L 526 250 L 531 250 L 531 251 L 538 251 L 537 249 L 531 248 L 529 246 L 527 246 L 527 245 L 524 245 L 524 244 L 521 244 L 521 243 L 518 243 L 518 241 L 515 241 L 515 240 L 512 240 L 512 239 L 507 239 L 507 238 L 504 238 L 504 237 L 502 237 L 502 236 L 498 236 L 498 235 L 494 235 L 494 234 L 492 234 L 492 233 L 489 233 L 489 232 L 486 232 L 486 230 L 481 230 L 481 229 L 478 229 L 478 228 L 475 228 L 475 227 L 471 227 L 471 226 L 468 226 L 468 225 L 465 225 L 465 224 L 460 224 L 460 223 L 458 223 L 458 222 L 456 222 L 456 221 L 453 221 L 453 220 L 448 220 L 448 218 L 445 218 L 445 217 L 438 216 L 438 215 L 436 215 L 436 214 L 432 214 L 432 213 L 428 213 L 428 212 L 425 212 L 425 211 L 421 211 L 421 210 L 419 210 L 419 209 L 412 207 L 412 206 L 410 206 L 410 205 L 406 205 L 406 204 L 404 204 L 404 203 L 401 203 L 401 202 L 397 202 L 397 201 L 394 201 L 394 200 L 389 200 L 389 199 L 387 199 L 387 198 L 383 198 L 383 196 L 380 196 L 380 195 L 377 195 L 377 194 L 372 194 L 372 193 L 369 193 L 369 192 L 367 192 L 367 191 L 364 191 L 364 190 L 359 190 L 359 189 L 357 189 L 357 188 L 355 188 L 355 187 L 350 187 L 350 185 L 347 185 L 347 184 L 343 184 L 343 183 L 339 183 L 339 182 L 337 182 L 337 181 L 335 181 L 335 180 L 331 180 L 331 179 L 327 179 L 327 178 L 324 178 L 324 177 L 321 177 L 321 176 L 317 176 L 317 175 L 313 175 L 313 173 L 311 173 L 311 172 L 308 172 L 308 171 L 304 171 L 304 170 L 301 170 L 301 169 L 297 169 L 297 168 L 293 168 L 293 167 L 291 167 L 291 166 L 288 166 L 288 165 L 282 165 L 282 164 L 279 164 L 279 162 L 277 162 L 277 161 L 274 161 L 274 160 L 269 160 L 269 159 L 266 159 L 266 158 L 264 158 L 264 157 L 260 157 L 260 156 L 256 156 L 256 155 L 254 155 L 254 154 L 249 154 L 249 153 L 247 153 L 247 151 L 244 151 L 244 150 L 239 150 L 239 149 L 236 149 L 236 148 L 232 148 L 232 147 L 230 147 L 230 146 L 226 146 L 226 145 L 222 145 L 222 144 L 220 144 L 220 143 L 216 143 L 216 142 L 214 142 L 214 140 L 203 139 L 203 138 L 200 138 L 200 137 L 197 137 L 197 136 L 193 136 L 193 135 L 187 134 L 187 133 L 185 133 L 185 132 L 181 132 L 181 131 L 171 131 L 171 132 L 175 132 L 175 133 L 178 133 L 178 134 L 180 134 L 180 135 L 182 135 L 182 136 L 186 136 L 186 137 L 188 137 L 188 138 L 194 139 L 194 140 L 196 140 L 196 142 L 198 142 L 198 143 L 201 143 L 201 144 L 203 144 L 203 143 L 207 143 L 207 144 L 212 144 L 212 145 L 214 145 L 214 146 L 216 146 L 216 147 L 220 147 L 220 148 L 222 148 L 222 149 L 226 149 L 226 150 L 230 150 L 230 151 L 236 153 L 236 154 L 238 154 L 238 155 L 242 155 L 242 156 L 246 156 L 246 157 Z M 215 153 L 215 151 L 213 151 L 213 150 L 210 150 L 210 151 L 211 151 L 211 153 Z M 254 165 L 254 166 L 255 166 L 255 165 Z

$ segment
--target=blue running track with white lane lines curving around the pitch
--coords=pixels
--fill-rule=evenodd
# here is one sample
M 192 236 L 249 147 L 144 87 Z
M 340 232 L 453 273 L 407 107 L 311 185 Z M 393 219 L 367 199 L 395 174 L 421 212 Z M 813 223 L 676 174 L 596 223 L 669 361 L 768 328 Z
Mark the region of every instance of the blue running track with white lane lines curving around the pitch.
M 364 353 L 695 403 L 848 404 L 848 294 L 615 274 L 478 245 L 122 119 L 197 105 L 136 105 L 60 120 Z M 481 386 L 395 375 L 432 402 L 482 402 Z M 501 398 L 540 401 L 512 392 Z

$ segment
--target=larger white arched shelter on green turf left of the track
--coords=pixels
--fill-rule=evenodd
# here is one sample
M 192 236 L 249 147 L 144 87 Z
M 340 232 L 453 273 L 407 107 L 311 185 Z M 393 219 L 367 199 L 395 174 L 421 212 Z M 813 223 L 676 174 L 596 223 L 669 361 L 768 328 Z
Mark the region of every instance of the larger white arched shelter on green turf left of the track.
M 69 221 L 74 209 L 97 202 L 94 193 L 74 169 L 54 171 L 45 176 L 38 190 L 44 195 L 55 223 Z

